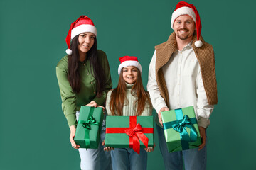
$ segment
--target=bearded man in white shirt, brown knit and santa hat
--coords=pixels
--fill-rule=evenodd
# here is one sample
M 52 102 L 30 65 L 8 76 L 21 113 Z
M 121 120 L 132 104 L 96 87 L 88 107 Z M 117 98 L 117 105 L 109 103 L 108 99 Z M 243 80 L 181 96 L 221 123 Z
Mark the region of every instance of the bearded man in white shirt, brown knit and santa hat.
M 213 47 L 201 37 L 201 21 L 193 4 L 179 2 L 171 17 L 169 39 L 155 47 L 149 65 L 149 91 L 156 109 L 159 147 L 166 169 L 206 169 L 206 128 L 217 84 Z M 196 149 L 169 153 L 164 138 L 161 112 L 193 106 L 202 144 Z

